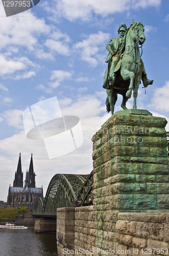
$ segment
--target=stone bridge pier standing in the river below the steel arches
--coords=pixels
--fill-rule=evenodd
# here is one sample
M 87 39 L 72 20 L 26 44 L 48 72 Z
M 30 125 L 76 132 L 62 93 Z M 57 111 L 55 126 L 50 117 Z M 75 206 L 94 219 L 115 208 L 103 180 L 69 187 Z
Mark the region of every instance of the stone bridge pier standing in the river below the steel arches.
M 56 232 L 56 230 L 57 230 L 57 222 L 55 219 L 35 220 L 35 229 L 34 229 L 35 233 Z

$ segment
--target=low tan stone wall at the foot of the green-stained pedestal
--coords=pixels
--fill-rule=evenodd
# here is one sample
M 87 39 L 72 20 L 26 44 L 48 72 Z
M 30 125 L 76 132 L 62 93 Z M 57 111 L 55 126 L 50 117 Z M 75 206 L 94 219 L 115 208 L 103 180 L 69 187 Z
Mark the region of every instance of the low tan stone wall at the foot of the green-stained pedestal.
M 66 225 L 70 224 L 70 220 L 65 219 L 66 215 L 69 216 L 70 209 L 72 217 L 74 211 L 74 227 L 71 225 L 71 232 L 70 225 L 68 229 Z M 165 253 L 169 251 L 167 213 L 98 211 L 96 206 L 59 210 L 59 218 L 62 212 L 62 221 L 57 220 L 57 225 L 60 225 L 57 228 L 59 256 L 70 255 L 71 250 L 74 251 L 73 255 L 96 256 L 101 255 L 101 249 L 102 255 L 168 255 Z M 71 221 L 73 224 L 72 219 Z

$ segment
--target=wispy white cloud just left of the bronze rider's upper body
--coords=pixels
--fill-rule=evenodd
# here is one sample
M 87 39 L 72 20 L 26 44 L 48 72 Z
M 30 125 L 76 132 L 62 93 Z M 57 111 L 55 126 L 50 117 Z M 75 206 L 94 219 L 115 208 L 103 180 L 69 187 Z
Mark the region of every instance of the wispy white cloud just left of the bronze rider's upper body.
M 81 60 L 85 60 L 91 66 L 96 67 L 100 60 L 99 45 L 105 45 L 105 41 L 109 38 L 108 33 L 99 31 L 97 34 L 86 36 L 81 42 L 74 45 L 74 49 L 78 50 Z

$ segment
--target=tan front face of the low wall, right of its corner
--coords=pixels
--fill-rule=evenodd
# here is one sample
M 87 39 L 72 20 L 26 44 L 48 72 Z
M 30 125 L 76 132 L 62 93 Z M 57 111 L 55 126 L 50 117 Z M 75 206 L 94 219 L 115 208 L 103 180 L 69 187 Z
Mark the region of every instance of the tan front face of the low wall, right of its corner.
M 132 248 L 138 248 L 138 254 L 145 252 L 153 255 L 146 248 L 155 248 L 154 254 L 168 254 L 169 214 L 121 212 L 118 214 L 116 228 L 119 232 L 118 242 L 131 251 Z

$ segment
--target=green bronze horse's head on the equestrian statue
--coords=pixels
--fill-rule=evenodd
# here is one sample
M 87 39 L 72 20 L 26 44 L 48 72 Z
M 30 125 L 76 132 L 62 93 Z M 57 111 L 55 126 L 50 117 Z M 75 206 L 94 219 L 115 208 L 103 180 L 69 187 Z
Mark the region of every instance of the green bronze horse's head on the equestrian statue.
M 145 29 L 142 22 L 134 22 L 134 20 L 132 20 L 132 25 L 130 28 L 134 33 L 134 39 L 138 41 L 139 45 L 143 45 L 146 41 L 146 36 L 144 34 Z

